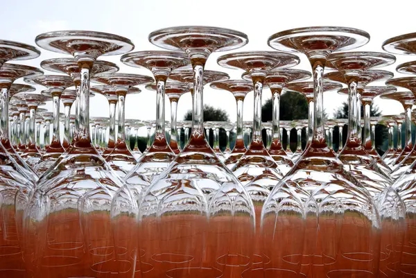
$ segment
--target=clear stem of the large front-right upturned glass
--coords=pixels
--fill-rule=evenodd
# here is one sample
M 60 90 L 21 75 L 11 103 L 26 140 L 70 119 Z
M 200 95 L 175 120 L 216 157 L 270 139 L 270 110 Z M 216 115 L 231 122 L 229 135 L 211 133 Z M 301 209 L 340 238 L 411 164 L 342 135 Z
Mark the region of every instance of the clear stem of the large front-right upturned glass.
M 316 60 L 312 64 L 313 70 L 313 102 L 314 102 L 314 122 L 313 122 L 313 144 L 320 147 L 327 147 L 324 129 L 324 92 L 323 92 L 323 73 L 324 61 Z

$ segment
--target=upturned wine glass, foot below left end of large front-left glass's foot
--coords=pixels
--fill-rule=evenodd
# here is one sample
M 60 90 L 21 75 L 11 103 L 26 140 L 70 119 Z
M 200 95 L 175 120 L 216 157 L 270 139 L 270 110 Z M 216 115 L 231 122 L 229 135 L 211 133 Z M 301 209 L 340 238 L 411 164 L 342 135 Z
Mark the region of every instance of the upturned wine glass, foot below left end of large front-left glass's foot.
M 53 132 L 51 144 L 46 148 L 42 157 L 32 157 L 30 153 L 27 155 L 24 153 L 22 155 L 25 157 L 26 162 L 33 167 L 37 175 L 42 176 L 65 151 L 60 141 L 60 98 L 65 89 L 73 86 L 73 81 L 69 76 L 55 75 L 25 78 L 25 81 L 29 84 L 46 87 L 53 98 Z

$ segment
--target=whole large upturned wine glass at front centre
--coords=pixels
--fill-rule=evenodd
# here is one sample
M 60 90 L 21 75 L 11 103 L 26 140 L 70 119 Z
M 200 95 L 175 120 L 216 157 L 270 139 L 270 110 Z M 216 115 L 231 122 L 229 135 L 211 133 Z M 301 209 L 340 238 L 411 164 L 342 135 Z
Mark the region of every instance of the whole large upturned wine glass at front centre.
M 250 268 L 254 209 L 205 140 L 202 87 L 209 54 L 239 48 L 248 38 L 224 28 L 184 26 L 155 31 L 149 40 L 186 52 L 195 82 L 191 138 L 141 198 L 141 277 L 239 277 Z

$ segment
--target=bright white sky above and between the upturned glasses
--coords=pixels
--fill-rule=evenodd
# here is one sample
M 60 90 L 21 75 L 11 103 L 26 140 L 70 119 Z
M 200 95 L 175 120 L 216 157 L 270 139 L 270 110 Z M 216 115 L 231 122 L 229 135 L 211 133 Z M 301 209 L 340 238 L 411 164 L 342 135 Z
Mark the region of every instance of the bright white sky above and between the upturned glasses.
M 319 6 L 318 6 L 319 5 Z M 371 35 L 370 42 L 356 50 L 382 51 L 384 40 L 395 35 L 416 32 L 414 12 L 416 1 L 5 1 L 1 5 L 2 27 L 0 38 L 35 45 L 36 35 L 48 31 L 87 30 L 114 33 L 128 37 L 135 44 L 134 51 L 157 50 L 148 42 L 148 34 L 159 28 L 182 25 L 205 25 L 232 28 L 246 33 L 249 43 L 236 51 L 272 51 L 267 45 L 268 37 L 279 31 L 304 26 L 347 26 L 360 28 Z M 198 10 L 201 14 L 198 15 Z M 16 63 L 40 67 L 40 62 L 64 55 L 42 51 L 40 58 Z M 224 52 L 209 57 L 206 69 L 225 71 L 232 79 L 239 79 L 242 71 L 224 69 L 216 63 Z M 67 56 L 69 57 L 69 56 Z M 311 71 L 306 57 L 300 54 L 300 69 Z M 150 71 L 125 66 L 120 56 L 105 56 L 103 60 L 116 62 L 123 73 L 142 73 L 151 76 Z M 415 56 L 397 56 L 397 62 L 384 69 L 395 72 L 397 64 L 415 60 Z M 49 72 L 46 72 L 48 74 Z M 55 74 L 55 73 L 49 73 Z M 232 94 L 205 87 L 204 103 L 226 110 L 231 121 L 236 120 L 236 107 Z M 267 90 L 263 103 L 270 98 Z M 329 116 L 333 110 L 346 101 L 346 96 L 335 92 L 324 95 L 324 107 Z M 376 105 L 382 114 L 403 112 L 395 101 L 379 98 Z M 51 105 L 46 105 L 51 110 Z M 61 106 L 62 107 L 62 106 Z M 105 108 L 104 108 L 105 107 Z M 90 116 L 108 116 L 107 101 L 97 95 L 90 102 Z M 62 108 L 61 108 L 62 109 Z M 191 109 L 191 96 L 182 96 L 178 105 L 177 119 L 182 120 Z M 61 110 L 62 112 L 62 110 Z M 252 120 L 253 94 L 244 103 L 244 121 Z M 155 119 L 155 93 L 143 90 L 139 95 L 128 96 L 126 119 Z M 166 120 L 170 120 L 170 108 L 166 98 Z

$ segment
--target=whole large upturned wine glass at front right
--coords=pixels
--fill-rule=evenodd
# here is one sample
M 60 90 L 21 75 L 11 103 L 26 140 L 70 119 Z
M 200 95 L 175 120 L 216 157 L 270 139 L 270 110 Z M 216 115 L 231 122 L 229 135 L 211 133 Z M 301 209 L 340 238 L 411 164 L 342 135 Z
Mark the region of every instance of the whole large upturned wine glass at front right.
M 380 218 L 372 196 L 325 141 L 323 71 L 333 51 L 366 44 L 367 33 L 345 27 L 296 28 L 272 35 L 279 51 L 301 52 L 311 62 L 314 129 L 311 144 L 275 186 L 261 212 L 265 277 L 376 277 Z M 319 229 L 318 229 L 319 227 Z M 354 234 L 355 236 L 349 236 Z M 293 243 L 291 238 L 298 238 Z

